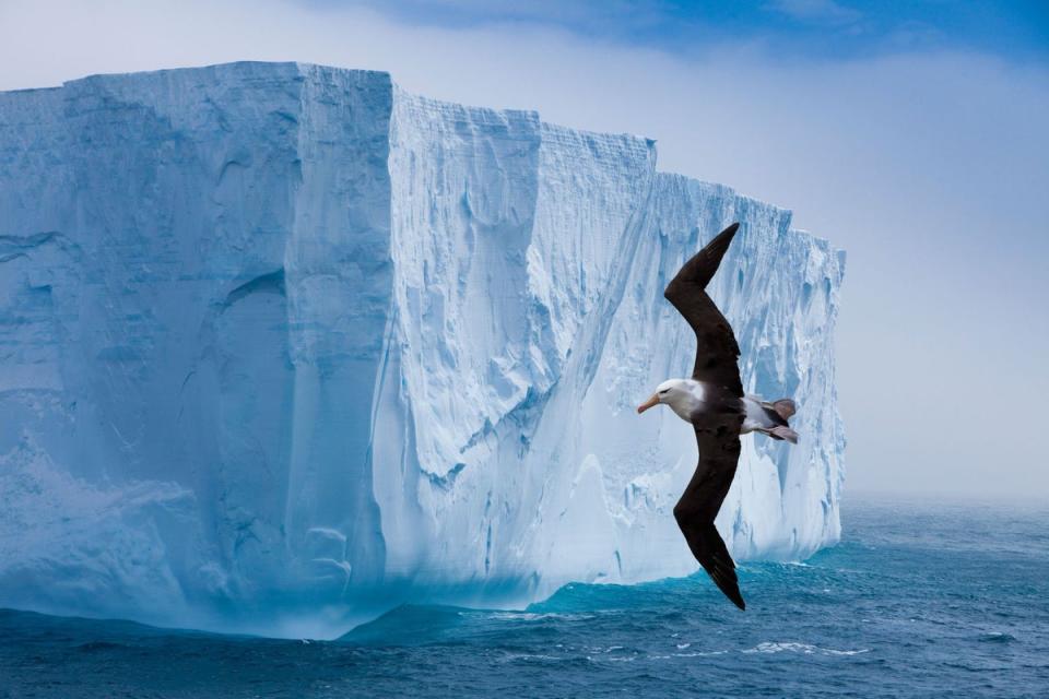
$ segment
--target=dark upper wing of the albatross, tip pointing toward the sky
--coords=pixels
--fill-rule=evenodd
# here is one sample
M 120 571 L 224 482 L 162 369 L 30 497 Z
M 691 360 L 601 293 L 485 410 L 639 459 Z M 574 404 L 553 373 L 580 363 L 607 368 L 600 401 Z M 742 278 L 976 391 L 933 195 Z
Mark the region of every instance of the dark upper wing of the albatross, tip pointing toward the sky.
M 740 345 L 735 342 L 729 321 L 706 292 L 739 227 L 740 224 L 732 224 L 685 262 L 667 285 L 663 296 L 685 317 L 696 333 L 696 363 L 692 378 L 742 396 Z

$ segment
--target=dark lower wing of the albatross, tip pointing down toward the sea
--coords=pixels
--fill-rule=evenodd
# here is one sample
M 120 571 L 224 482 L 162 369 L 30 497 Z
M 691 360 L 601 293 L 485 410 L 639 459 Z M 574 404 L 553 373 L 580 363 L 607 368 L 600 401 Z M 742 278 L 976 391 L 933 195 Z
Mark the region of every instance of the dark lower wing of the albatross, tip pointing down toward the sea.
M 714 525 L 740 461 L 742 425 L 742 412 L 739 407 L 733 410 L 728 401 L 722 410 L 704 413 L 693 422 L 699 463 L 674 507 L 674 518 L 688 542 L 692 555 L 710 579 L 735 606 L 745 609 L 735 564 Z

